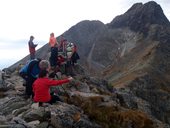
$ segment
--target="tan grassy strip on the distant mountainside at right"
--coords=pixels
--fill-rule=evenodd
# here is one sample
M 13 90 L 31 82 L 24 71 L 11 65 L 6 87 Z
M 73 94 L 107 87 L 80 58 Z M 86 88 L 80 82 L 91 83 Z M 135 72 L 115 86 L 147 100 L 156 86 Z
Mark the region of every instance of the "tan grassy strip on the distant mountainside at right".
M 113 73 L 136 71 L 140 68 L 148 66 L 154 57 L 155 48 L 158 42 L 141 42 L 141 44 L 132 49 L 127 55 L 123 56 L 117 64 L 111 65 L 103 72 L 103 76 L 108 77 Z

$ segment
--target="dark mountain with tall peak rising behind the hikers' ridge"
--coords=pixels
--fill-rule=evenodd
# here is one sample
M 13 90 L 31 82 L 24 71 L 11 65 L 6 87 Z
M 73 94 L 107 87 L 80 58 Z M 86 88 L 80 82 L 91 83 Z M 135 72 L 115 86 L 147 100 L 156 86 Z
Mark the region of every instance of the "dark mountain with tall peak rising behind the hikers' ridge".
M 109 24 L 86 20 L 63 35 L 77 44 L 87 71 L 123 90 L 118 97 L 124 107 L 170 125 L 170 22 L 160 5 L 136 3 Z M 48 44 L 37 56 L 49 58 Z

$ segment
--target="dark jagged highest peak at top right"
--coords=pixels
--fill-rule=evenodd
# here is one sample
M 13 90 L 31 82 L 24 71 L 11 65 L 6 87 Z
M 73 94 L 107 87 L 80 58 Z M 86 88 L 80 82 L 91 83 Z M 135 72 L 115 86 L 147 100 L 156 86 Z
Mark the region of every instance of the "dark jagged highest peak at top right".
M 123 15 L 113 19 L 109 26 L 112 28 L 129 27 L 133 31 L 142 32 L 145 27 L 152 24 L 170 26 L 161 6 L 154 1 L 134 4 Z

